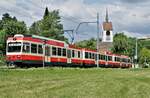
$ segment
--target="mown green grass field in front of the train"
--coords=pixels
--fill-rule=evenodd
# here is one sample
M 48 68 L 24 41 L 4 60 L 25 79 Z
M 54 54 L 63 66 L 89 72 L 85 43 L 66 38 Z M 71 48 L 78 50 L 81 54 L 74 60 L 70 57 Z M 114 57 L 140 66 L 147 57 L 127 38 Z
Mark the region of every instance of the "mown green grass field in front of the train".
M 150 69 L 0 69 L 0 98 L 150 98 Z

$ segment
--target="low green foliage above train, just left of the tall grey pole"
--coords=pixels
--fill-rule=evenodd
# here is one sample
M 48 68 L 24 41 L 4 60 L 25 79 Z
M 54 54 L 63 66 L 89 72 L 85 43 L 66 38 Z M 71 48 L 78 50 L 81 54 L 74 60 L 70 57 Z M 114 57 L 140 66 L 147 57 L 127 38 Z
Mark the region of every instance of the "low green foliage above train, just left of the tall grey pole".
M 94 38 L 91 38 L 90 40 L 83 40 L 75 44 L 81 48 L 96 50 L 96 40 Z

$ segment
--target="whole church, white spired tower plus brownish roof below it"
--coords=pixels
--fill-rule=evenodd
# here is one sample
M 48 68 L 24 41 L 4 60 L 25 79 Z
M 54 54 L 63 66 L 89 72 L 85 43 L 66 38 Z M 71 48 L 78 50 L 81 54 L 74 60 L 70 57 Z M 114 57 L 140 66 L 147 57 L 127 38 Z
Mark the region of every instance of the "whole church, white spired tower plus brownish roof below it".
M 102 41 L 99 43 L 99 52 L 105 53 L 110 51 L 113 44 L 113 26 L 109 21 L 108 10 L 106 10 L 105 21 L 102 25 Z

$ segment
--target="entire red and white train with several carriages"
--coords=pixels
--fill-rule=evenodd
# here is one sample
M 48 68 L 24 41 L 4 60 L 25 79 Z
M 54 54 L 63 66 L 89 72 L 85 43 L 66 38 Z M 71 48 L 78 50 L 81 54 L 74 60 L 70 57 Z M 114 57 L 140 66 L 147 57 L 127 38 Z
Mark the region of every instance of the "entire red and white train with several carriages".
M 63 41 L 36 35 L 17 34 L 7 40 L 7 64 L 23 66 L 65 66 L 130 68 L 130 58 L 109 52 L 78 48 Z M 98 55 L 98 59 L 97 59 Z

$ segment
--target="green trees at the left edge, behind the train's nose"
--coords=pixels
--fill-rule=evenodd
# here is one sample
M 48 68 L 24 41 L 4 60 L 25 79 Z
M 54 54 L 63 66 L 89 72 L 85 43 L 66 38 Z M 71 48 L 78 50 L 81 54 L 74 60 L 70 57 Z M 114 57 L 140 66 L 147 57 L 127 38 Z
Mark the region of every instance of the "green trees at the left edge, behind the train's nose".
M 2 20 L 0 20 L 0 52 L 2 54 L 5 54 L 7 37 L 18 33 L 27 33 L 26 24 L 18 21 L 16 17 L 11 17 L 8 13 L 3 14 Z

